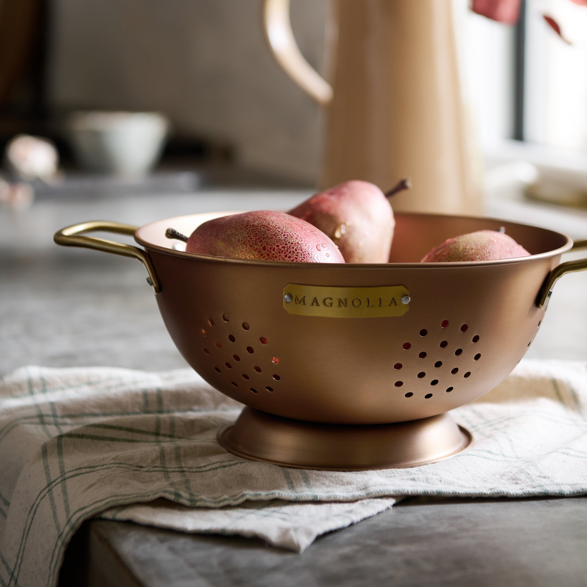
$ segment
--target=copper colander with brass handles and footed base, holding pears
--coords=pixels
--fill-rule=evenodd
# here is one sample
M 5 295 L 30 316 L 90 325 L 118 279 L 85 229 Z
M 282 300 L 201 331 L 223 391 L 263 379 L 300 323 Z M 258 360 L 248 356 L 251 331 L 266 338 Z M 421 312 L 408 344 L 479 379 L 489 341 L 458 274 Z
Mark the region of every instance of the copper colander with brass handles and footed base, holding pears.
M 470 434 L 446 413 L 509 375 L 556 279 L 587 268 L 559 265 L 569 237 L 488 218 L 397 214 L 390 263 L 377 265 L 207 257 L 164 236 L 228 213 L 86 222 L 55 241 L 139 258 L 185 360 L 248 406 L 221 444 L 288 466 L 404 467 L 464 450 Z M 501 226 L 531 257 L 418 262 L 446 238 Z M 80 236 L 97 230 L 134 234 L 144 251 Z

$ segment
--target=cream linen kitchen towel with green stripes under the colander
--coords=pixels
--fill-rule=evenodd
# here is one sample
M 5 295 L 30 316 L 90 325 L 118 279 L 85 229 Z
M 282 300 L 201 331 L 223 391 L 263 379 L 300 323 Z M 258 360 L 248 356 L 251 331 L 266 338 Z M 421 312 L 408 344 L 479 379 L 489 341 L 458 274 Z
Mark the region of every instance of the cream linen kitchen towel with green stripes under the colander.
M 453 410 L 473 447 L 409 469 L 339 473 L 235 457 L 216 434 L 241 408 L 188 369 L 23 367 L 5 377 L 0 587 L 56 585 L 69 539 L 100 514 L 302 551 L 404 495 L 587 493 L 583 362 L 522 361 Z

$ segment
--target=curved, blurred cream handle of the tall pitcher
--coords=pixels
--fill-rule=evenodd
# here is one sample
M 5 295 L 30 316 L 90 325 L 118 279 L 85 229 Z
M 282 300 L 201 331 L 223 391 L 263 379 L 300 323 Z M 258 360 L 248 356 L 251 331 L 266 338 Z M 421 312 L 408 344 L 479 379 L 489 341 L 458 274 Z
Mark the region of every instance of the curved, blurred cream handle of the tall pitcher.
M 289 20 L 289 0 L 264 0 L 265 36 L 275 59 L 299 87 L 325 106 L 332 100 L 332 86 L 303 58 Z

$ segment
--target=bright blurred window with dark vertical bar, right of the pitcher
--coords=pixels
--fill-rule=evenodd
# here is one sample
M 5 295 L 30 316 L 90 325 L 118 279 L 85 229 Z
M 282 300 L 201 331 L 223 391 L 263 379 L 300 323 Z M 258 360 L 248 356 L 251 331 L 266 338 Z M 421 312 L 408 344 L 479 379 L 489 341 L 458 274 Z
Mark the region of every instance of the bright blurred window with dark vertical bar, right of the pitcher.
M 568 42 L 543 15 L 558 22 Z M 469 12 L 461 21 L 465 90 L 480 143 L 486 151 L 518 139 L 585 152 L 587 6 L 522 0 L 521 19 L 507 26 Z

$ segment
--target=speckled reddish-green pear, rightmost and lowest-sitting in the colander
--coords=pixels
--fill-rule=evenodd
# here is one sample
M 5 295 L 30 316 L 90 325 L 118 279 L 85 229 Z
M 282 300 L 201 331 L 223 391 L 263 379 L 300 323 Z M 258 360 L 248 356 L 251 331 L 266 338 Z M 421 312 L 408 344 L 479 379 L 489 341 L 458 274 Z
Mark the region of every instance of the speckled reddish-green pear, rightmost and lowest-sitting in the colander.
M 494 261 L 528 257 L 530 253 L 503 232 L 479 230 L 449 238 L 434 247 L 420 262 Z

